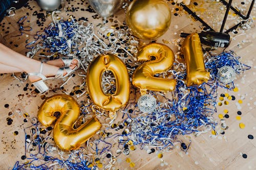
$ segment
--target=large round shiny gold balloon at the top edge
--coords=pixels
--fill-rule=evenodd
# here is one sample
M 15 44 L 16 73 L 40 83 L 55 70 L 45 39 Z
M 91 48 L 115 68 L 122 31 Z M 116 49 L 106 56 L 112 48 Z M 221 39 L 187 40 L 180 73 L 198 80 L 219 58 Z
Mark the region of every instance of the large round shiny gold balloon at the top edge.
M 133 1 L 126 13 L 126 22 L 133 34 L 142 39 L 163 35 L 170 25 L 171 13 L 162 0 Z

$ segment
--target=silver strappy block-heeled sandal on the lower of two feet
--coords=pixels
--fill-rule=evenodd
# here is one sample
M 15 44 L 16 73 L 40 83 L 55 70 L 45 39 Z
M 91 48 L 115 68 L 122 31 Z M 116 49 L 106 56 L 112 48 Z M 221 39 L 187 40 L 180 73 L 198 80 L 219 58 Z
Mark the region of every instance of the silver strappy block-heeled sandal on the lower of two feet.
M 38 80 L 38 81 L 32 83 L 35 86 L 35 88 L 37 88 L 37 90 L 40 93 L 44 93 L 44 92 L 49 90 L 49 87 L 44 82 L 45 80 L 49 80 L 49 79 L 65 79 L 68 76 L 70 76 L 71 72 L 74 71 L 74 69 L 71 69 L 69 67 L 62 67 L 62 68 L 58 69 L 57 74 L 55 75 L 55 77 L 48 77 L 47 78 L 45 75 L 42 74 L 42 65 L 43 64 L 41 62 L 39 72 L 28 73 L 28 76 L 36 76 L 36 77 L 41 78 L 41 80 Z M 67 72 L 67 74 L 65 76 L 63 76 L 64 70 L 66 70 L 66 72 Z

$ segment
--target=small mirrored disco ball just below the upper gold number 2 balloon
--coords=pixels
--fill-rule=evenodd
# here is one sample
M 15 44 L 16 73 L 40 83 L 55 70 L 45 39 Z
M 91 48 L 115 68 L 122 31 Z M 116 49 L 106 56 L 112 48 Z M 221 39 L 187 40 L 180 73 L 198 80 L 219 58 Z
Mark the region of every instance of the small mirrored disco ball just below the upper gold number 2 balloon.
M 145 113 L 153 112 L 157 107 L 156 99 L 153 95 L 150 94 L 144 94 L 140 96 L 137 104 L 140 111 Z

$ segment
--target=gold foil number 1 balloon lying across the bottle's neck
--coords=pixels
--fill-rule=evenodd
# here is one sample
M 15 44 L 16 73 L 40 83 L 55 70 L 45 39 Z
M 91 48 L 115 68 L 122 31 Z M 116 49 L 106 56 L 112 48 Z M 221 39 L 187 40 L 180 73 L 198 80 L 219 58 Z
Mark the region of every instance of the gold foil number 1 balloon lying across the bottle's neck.
M 205 71 L 199 35 L 196 33 L 188 35 L 182 44 L 181 50 L 186 62 L 186 85 L 193 86 L 207 82 L 210 73 Z

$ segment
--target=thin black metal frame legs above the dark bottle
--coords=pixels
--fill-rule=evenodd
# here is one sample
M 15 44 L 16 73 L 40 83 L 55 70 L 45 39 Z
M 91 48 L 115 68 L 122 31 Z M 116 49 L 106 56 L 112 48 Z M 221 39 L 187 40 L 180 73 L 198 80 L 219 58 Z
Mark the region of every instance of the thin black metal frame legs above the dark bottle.
M 253 8 L 253 5 L 254 5 L 254 2 L 255 0 L 252 0 L 251 2 L 251 5 L 250 5 L 250 8 L 247 12 L 246 15 L 243 15 L 240 11 L 238 11 L 236 8 L 234 8 L 232 6 L 232 0 L 229 0 L 229 2 L 226 2 L 225 0 L 220 0 L 222 2 L 222 4 L 224 4 L 227 9 L 226 9 L 226 13 L 224 15 L 224 18 L 223 18 L 223 21 L 222 21 L 222 25 L 221 25 L 221 29 L 220 29 L 220 33 L 223 32 L 223 29 L 224 29 L 224 26 L 225 26 L 225 23 L 226 23 L 226 20 L 227 20 L 227 16 L 228 16 L 228 12 L 229 10 L 231 9 L 232 11 L 234 11 L 234 13 L 236 13 L 237 15 L 239 15 L 241 18 L 243 19 L 248 19 L 250 17 L 250 14 L 251 14 L 251 11 L 252 11 L 252 8 Z M 215 31 L 214 29 L 212 29 L 202 18 L 200 18 L 196 12 L 193 12 L 191 11 L 186 5 L 183 5 L 181 4 L 181 6 L 184 8 L 185 11 L 188 12 L 188 14 L 191 14 L 191 16 L 193 16 L 196 20 L 199 20 L 205 27 L 207 30 L 210 30 L 210 31 Z M 232 28 L 228 29 L 227 31 L 225 31 L 225 33 L 229 33 L 230 31 L 234 30 L 234 29 L 237 29 L 240 25 L 242 25 L 245 21 L 241 21 L 239 22 L 237 25 L 233 26 Z

